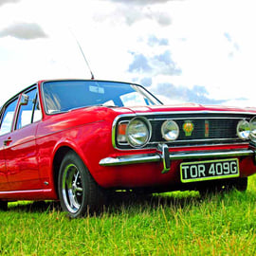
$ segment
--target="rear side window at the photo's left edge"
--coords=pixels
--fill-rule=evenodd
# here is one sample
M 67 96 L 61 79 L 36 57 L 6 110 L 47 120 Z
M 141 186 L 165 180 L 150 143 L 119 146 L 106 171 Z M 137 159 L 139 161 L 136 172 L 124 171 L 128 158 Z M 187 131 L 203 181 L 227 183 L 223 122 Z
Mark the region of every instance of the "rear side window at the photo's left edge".
M 11 131 L 11 124 L 15 112 L 15 107 L 18 99 L 9 103 L 4 112 L 4 116 L 1 122 L 0 136 L 4 134 L 8 134 Z

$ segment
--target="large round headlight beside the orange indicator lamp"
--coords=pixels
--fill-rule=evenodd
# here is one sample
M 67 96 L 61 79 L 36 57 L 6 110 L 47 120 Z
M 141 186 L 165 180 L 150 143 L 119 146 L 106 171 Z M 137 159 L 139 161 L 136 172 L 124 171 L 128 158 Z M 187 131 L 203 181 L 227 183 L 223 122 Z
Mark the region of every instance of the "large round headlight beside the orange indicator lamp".
M 131 119 L 126 129 L 127 141 L 132 147 L 144 146 L 151 137 L 151 125 L 147 119 Z

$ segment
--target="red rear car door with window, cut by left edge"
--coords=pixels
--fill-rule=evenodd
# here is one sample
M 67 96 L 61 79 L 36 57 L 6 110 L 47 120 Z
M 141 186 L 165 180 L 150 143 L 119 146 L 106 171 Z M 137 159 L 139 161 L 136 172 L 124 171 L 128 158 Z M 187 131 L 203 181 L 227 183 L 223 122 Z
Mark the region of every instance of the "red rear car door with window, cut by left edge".
M 6 168 L 5 148 L 9 144 L 9 137 L 18 98 L 7 102 L 1 111 L 0 124 L 0 192 L 9 191 L 8 172 Z

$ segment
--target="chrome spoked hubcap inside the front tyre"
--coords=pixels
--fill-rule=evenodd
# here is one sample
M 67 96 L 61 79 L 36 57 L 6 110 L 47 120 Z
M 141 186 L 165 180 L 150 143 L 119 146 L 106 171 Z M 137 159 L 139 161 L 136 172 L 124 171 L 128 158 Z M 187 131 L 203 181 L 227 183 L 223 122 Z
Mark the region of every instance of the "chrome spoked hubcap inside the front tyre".
M 82 180 L 78 168 L 69 164 L 64 169 L 62 192 L 64 204 L 72 213 L 76 213 L 82 204 Z

